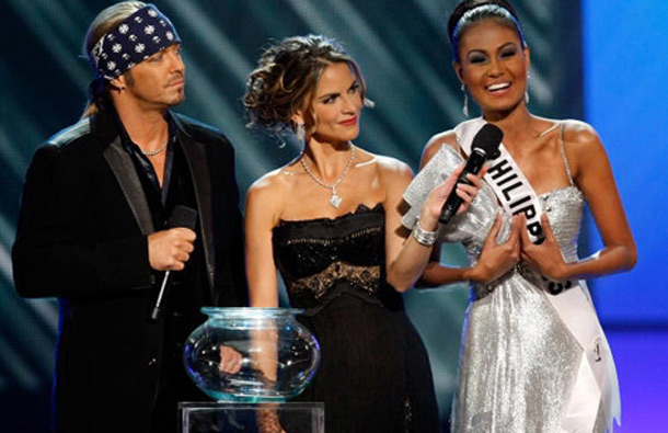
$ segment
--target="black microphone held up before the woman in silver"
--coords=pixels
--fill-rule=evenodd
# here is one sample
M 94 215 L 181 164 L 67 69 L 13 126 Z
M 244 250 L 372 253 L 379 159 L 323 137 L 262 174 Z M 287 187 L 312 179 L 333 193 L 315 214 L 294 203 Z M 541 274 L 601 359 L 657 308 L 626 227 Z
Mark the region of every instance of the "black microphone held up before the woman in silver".
M 471 185 L 471 181 L 467 179 L 467 174 L 477 174 L 483 168 L 483 164 L 487 159 L 498 158 L 499 150 L 498 145 L 504 138 L 504 132 L 498 126 L 492 125 L 491 123 L 485 124 L 475 137 L 473 137 L 473 144 L 471 145 L 471 155 L 464 167 L 464 171 L 460 174 L 457 183 L 467 183 Z M 448 200 L 444 204 L 440 210 L 440 218 L 438 220 L 441 224 L 448 224 L 450 218 L 454 216 L 457 209 L 462 204 L 462 200 L 457 195 L 457 185 L 450 192 Z

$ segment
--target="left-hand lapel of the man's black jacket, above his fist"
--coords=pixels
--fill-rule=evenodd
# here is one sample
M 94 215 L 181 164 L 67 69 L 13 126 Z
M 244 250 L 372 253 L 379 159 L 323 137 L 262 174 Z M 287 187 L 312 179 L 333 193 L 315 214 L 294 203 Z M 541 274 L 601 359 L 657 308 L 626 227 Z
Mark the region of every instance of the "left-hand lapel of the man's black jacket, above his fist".
M 123 149 L 120 138 L 116 137 L 103 151 L 104 159 L 112 168 L 120 190 L 135 215 L 142 235 L 150 235 L 156 231 L 149 204 L 143 195 L 141 181 L 137 175 L 137 170 L 131 157 Z

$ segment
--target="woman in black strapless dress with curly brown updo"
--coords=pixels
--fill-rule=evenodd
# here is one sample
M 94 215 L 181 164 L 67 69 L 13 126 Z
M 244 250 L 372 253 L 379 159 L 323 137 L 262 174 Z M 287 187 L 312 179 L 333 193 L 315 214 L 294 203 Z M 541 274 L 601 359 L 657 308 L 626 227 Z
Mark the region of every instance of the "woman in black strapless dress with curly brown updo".
M 434 190 L 414 236 L 402 231 L 411 169 L 352 143 L 365 91 L 357 64 L 314 35 L 272 46 L 249 77 L 251 123 L 303 141 L 296 159 L 247 193 L 251 305 L 278 305 L 278 267 L 291 306 L 304 309 L 299 320 L 321 343 L 320 368 L 299 399 L 325 402 L 327 433 L 435 432 L 429 361 L 399 292 L 423 271 L 456 178 Z M 465 202 L 474 194 L 460 190 Z

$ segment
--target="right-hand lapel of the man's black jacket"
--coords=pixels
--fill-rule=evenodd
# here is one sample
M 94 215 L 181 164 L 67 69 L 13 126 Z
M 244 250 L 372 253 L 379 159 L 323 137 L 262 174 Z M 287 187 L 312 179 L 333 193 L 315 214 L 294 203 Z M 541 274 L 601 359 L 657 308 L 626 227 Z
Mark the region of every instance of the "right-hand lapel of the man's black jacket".
M 181 126 L 176 119 L 176 124 Z M 182 144 L 185 159 L 188 163 L 188 169 L 193 178 L 195 189 L 195 197 L 199 208 L 199 224 L 201 227 L 201 237 L 204 244 L 204 254 L 207 265 L 207 278 L 209 287 L 214 287 L 214 223 L 211 221 L 211 178 L 209 173 L 209 164 L 207 163 L 207 155 L 204 145 L 195 140 L 187 133 L 183 132 L 182 127 L 177 127 L 178 140 Z

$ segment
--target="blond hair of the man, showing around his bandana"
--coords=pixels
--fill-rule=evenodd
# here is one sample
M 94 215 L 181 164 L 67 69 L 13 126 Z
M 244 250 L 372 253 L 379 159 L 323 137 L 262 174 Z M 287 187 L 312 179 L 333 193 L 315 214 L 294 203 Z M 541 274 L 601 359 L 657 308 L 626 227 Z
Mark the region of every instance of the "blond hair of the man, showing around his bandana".
M 85 38 L 83 42 L 83 56 L 89 60 L 91 65 L 93 61 L 93 47 L 106 33 L 112 31 L 122 21 L 137 12 L 141 8 L 145 8 L 146 3 L 141 1 L 123 1 L 120 3 L 113 4 L 95 16 L 91 23 Z M 95 67 L 93 66 L 93 69 Z M 82 118 L 92 116 L 100 111 L 102 100 L 107 95 L 111 84 L 107 80 L 95 77 L 89 84 L 89 96 L 85 109 L 83 110 Z

